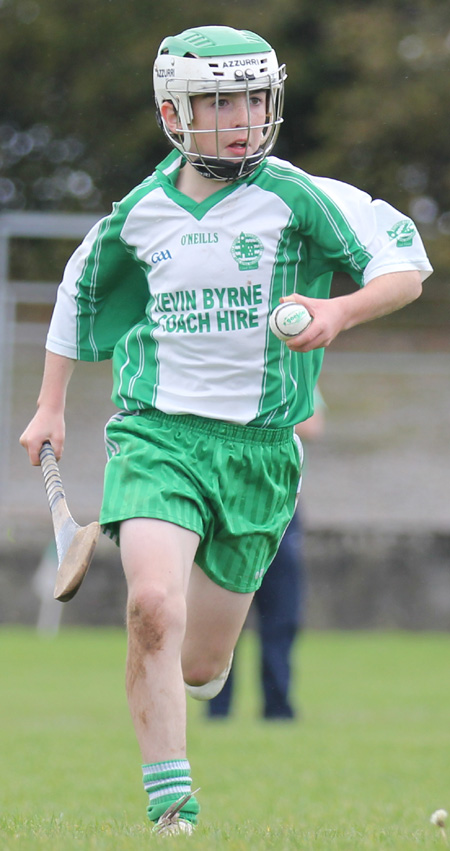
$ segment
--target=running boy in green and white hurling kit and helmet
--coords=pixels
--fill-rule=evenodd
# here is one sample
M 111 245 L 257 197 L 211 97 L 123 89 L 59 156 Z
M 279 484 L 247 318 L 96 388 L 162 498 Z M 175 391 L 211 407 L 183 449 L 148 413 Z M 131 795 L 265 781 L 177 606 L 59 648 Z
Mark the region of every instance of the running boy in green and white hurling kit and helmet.
M 127 695 L 158 832 L 197 820 L 183 680 L 200 698 L 225 681 L 294 512 L 293 427 L 313 413 L 323 348 L 417 298 L 431 272 L 408 218 L 269 157 L 285 77 L 254 33 L 163 41 L 155 95 L 175 150 L 69 261 L 21 437 L 33 464 L 45 440 L 59 457 L 74 362 L 113 358 L 100 521 L 120 536 Z M 330 299 L 334 271 L 359 289 Z M 268 330 L 280 299 L 313 316 L 288 345 Z

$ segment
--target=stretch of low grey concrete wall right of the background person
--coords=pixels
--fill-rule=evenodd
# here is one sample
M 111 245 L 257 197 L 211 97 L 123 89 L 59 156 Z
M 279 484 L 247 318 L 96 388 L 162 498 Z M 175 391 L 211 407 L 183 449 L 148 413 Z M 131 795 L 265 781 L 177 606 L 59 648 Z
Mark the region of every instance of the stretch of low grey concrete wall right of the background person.
M 450 534 L 325 529 L 305 549 L 310 627 L 450 629 Z

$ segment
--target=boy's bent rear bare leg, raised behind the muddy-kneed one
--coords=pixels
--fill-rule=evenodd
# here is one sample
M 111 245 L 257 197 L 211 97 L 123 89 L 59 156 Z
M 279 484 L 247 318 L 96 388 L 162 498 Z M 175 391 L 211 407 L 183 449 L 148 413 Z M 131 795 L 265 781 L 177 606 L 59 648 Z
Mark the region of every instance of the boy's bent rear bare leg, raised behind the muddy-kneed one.
M 187 590 L 184 679 L 203 685 L 225 670 L 247 617 L 253 593 L 237 594 L 212 582 L 194 564 Z

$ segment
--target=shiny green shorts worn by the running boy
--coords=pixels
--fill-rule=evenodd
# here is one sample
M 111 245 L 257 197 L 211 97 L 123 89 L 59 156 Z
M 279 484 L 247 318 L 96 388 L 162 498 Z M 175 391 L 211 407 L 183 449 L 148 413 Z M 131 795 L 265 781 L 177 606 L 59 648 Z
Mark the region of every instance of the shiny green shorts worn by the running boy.
M 145 410 L 106 426 L 100 522 L 152 517 L 200 536 L 195 561 L 218 585 L 261 585 L 295 510 L 301 447 L 293 429 L 260 429 Z

